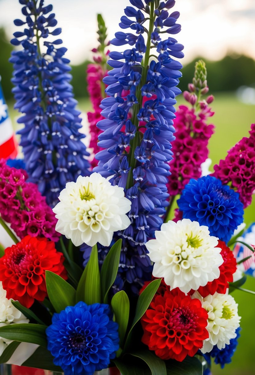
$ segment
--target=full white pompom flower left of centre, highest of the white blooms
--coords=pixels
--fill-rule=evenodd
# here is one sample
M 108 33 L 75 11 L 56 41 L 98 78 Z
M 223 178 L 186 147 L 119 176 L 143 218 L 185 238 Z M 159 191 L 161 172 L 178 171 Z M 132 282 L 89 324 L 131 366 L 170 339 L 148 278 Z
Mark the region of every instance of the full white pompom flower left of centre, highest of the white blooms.
M 123 187 L 112 186 L 99 173 L 79 176 L 68 182 L 53 208 L 58 222 L 56 231 L 71 239 L 75 246 L 97 242 L 109 246 L 113 232 L 126 229 L 130 219 L 131 202 L 124 196 Z

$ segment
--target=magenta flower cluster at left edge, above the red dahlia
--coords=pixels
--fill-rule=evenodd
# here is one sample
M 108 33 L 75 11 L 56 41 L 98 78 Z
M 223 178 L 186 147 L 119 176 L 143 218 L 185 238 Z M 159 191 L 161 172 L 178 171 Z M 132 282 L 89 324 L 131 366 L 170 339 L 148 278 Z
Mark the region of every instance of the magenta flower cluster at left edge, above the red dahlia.
M 56 242 L 60 234 L 55 231 L 55 215 L 38 186 L 26 182 L 26 178 L 25 171 L 7 166 L 4 159 L 0 160 L 0 215 L 11 223 L 21 239 L 29 234 Z

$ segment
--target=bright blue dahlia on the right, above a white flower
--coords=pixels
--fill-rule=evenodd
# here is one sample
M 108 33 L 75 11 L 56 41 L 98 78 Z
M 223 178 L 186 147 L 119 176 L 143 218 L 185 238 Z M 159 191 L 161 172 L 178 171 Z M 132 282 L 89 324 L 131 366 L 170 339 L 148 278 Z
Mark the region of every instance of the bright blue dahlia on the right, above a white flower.
M 243 204 L 239 194 L 210 175 L 193 178 L 185 186 L 178 200 L 183 218 L 196 220 L 209 228 L 211 236 L 226 243 L 243 222 Z

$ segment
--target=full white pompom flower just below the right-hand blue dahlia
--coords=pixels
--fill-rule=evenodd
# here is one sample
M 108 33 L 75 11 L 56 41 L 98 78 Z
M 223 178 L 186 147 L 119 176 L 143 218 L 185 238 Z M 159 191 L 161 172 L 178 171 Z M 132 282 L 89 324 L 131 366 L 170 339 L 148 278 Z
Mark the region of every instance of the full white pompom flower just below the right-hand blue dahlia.
M 178 287 L 187 294 L 218 279 L 221 249 L 215 247 L 218 239 L 210 236 L 207 226 L 190 219 L 169 220 L 155 231 L 155 237 L 145 244 L 155 262 L 152 273 L 163 277 L 171 290 Z

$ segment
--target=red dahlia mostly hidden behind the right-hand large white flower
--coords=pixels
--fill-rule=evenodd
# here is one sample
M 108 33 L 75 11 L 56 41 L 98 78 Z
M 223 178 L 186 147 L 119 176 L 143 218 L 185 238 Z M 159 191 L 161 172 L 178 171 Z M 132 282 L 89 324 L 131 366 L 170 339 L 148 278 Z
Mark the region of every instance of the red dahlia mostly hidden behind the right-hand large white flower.
M 228 283 L 233 282 L 233 274 L 236 272 L 236 258 L 233 252 L 223 241 L 218 241 L 217 246 L 221 248 L 221 256 L 223 258 L 223 263 L 219 266 L 219 278 L 208 282 L 205 287 L 199 287 L 198 292 L 202 297 L 206 297 L 209 294 L 213 295 L 215 292 L 225 294 Z

